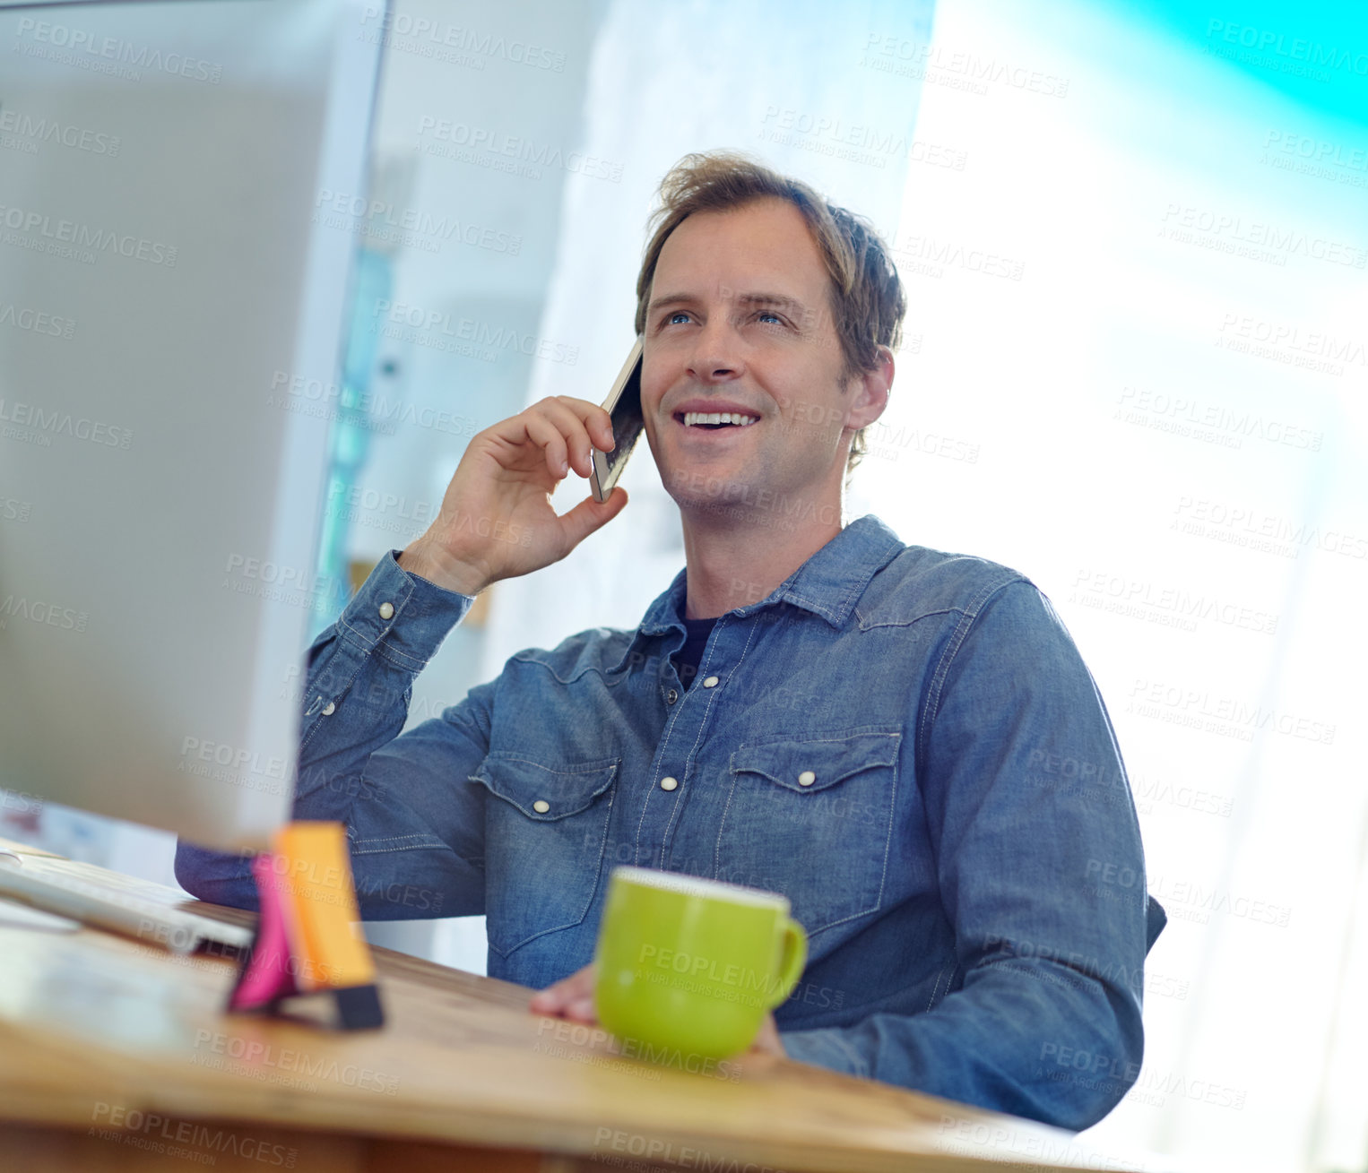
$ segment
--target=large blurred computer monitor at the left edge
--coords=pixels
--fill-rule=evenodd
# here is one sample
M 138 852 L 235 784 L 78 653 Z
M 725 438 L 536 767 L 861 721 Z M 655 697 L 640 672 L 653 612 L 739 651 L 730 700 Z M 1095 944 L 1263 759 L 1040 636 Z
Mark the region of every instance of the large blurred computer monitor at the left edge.
M 0 7 L 0 786 L 289 818 L 376 0 Z

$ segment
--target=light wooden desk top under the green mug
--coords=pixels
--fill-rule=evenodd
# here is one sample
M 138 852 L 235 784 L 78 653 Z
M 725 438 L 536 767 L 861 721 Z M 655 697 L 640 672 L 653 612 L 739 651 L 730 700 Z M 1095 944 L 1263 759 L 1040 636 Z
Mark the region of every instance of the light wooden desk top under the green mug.
M 224 958 L 0 927 L 0 1169 L 1161 1168 L 767 1055 L 658 1068 L 521 986 L 375 953 L 386 1027 L 332 1034 L 224 1014 Z

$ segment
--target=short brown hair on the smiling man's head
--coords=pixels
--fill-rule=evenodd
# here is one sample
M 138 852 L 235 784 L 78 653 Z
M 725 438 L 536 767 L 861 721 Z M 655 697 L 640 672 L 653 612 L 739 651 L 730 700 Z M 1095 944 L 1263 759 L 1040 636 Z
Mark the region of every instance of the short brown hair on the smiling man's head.
M 800 179 L 780 175 L 739 152 L 685 154 L 661 180 L 661 205 L 647 223 L 651 239 L 636 278 L 636 332 L 646 329 L 646 304 L 655 265 L 670 232 L 695 212 L 721 212 L 772 196 L 787 200 L 803 213 L 826 264 L 832 279 L 832 320 L 844 358 L 844 386 L 856 372 L 878 366 L 877 347 L 896 350 L 902 342 L 907 297 L 897 269 L 867 220 L 830 204 Z M 862 428 L 851 442 L 847 476 L 866 451 Z

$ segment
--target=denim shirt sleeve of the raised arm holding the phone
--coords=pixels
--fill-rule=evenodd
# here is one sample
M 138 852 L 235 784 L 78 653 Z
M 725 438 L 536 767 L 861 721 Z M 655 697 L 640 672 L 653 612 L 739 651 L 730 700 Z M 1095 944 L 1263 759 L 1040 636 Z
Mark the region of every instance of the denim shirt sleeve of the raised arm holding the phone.
M 293 818 L 346 826 L 365 920 L 484 912 L 484 787 L 469 775 L 488 755 L 491 688 L 401 736 L 415 677 L 473 603 L 390 551 L 309 648 Z M 250 868 L 252 853 L 176 844 L 176 880 L 201 900 L 254 909 Z

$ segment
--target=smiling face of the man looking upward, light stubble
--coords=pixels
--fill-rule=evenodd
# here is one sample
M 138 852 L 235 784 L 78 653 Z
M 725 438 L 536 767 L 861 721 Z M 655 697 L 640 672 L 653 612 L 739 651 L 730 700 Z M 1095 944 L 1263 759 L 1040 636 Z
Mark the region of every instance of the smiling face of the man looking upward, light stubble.
M 642 407 L 680 509 L 839 500 L 848 437 L 884 401 L 873 403 L 859 376 L 841 383 L 829 287 L 807 221 L 785 200 L 698 212 L 666 239 L 647 304 Z M 748 422 L 709 427 L 695 412 Z

